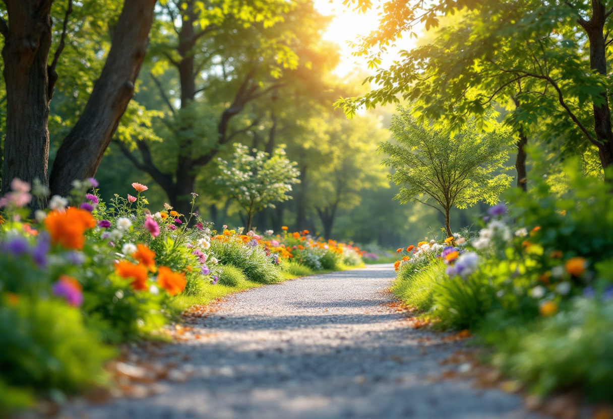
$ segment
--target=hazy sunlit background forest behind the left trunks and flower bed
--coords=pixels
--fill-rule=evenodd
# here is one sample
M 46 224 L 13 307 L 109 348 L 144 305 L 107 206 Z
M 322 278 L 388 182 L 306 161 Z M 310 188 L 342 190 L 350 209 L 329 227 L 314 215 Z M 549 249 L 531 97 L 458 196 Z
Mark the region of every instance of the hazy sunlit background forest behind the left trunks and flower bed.
M 438 231 L 433 227 L 444 218 L 437 211 L 392 201 L 398 187 L 386 180 L 376 148 L 389 139 L 394 108 L 348 120 L 333 107 L 370 86 L 362 85 L 359 70 L 335 72 L 340 45 L 322 37 L 330 17 L 311 1 L 292 8 L 256 2 L 243 12 L 230 3 L 207 10 L 203 4 L 168 0 L 156 6 L 134 97 L 96 173 L 103 200 L 128 194 L 136 181 L 150 186 L 152 205 L 169 202 L 188 213 L 195 191 L 204 219 L 245 225 L 244 211 L 213 181 L 217 159 L 228 157 L 236 142 L 268 153 L 286 145 L 301 182 L 291 200 L 254 216 L 257 231 L 288 225 L 387 248 Z M 53 3 L 50 66 L 59 77 L 48 119 L 50 172 L 101 75 L 122 6 L 118 0 Z M 6 7 L 0 10 L 6 18 Z M 0 89 L 5 124 L 4 83 Z M 1 129 L 6 133 L 6 126 Z M 453 224 L 464 227 L 481 210 L 455 211 Z

